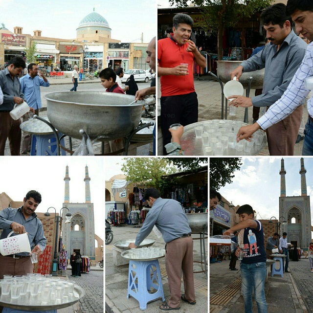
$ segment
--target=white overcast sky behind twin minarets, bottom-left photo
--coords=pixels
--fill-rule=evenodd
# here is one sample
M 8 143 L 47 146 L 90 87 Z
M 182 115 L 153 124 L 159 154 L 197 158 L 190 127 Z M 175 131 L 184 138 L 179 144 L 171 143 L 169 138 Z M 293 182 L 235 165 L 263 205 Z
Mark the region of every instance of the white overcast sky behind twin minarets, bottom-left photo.
M 95 233 L 105 239 L 104 207 L 105 178 L 102 157 L 34 156 L 0 157 L 0 193 L 14 201 L 23 201 L 29 190 L 37 190 L 42 202 L 36 212 L 53 206 L 60 213 L 64 202 L 65 171 L 69 171 L 69 201 L 85 202 L 85 166 L 90 177 L 90 197 L 94 208 Z M 53 209 L 49 212 L 54 213 Z

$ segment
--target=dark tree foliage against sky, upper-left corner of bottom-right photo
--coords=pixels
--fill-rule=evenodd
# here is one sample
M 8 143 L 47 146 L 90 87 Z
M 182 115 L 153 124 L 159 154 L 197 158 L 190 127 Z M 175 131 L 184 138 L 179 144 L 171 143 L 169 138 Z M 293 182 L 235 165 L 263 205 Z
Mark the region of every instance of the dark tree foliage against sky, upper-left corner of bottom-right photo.
M 231 183 L 233 173 L 240 170 L 241 157 L 210 157 L 210 187 L 219 190 Z

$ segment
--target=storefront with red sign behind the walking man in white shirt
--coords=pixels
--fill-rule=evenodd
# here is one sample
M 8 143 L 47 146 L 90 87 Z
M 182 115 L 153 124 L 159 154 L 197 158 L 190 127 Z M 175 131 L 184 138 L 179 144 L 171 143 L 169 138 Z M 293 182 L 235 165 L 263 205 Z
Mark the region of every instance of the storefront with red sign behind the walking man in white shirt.
M 79 49 L 80 45 L 59 45 L 60 69 L 62 71 L 72 71 L 74 66 L 82 67 Z

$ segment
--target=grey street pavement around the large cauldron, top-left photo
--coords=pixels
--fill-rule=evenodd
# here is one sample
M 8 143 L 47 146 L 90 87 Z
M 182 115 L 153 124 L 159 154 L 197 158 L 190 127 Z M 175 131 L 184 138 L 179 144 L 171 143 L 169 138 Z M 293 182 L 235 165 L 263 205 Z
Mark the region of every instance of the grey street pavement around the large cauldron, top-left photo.
M 49 87 L 40 87 L 41 91 L 41 99 L 43 108 L 39 112 L 40 117 L 46 117 L 47 116 L 47 101 L 45 99 L 45 95 L 51 92 L 57 92 L 57 91 L 68 91 L 73 87 L 72 79 L 69 77 L 64 78 L 50 78 L 47 77 L 47 79 L 50 82 Z M 150 86 L 151 81 L 149 83 L 137 83 L 138 89 L 144 89 Z M 95 78 L 94 80 L 87 80 L 87 81 L 78 81 L 78 91 L 105 91 L 104 87 L 101 85 L 100 78 Z M 76 151 L 77 148 L 80 146 L 81 140 L 72 138 L 72 151 Z M 69 140 L 68 137 L 65 137 L 65 146 L 66 148 L 69 148 Z M 94 149 L 94 153 L 97 155 L 101 154 L 101 142 L 93 142 L 92 145 Z M 152 152 L 152 143 L 151 144 L 145 144 L 142 145 L 141 143 L 132 143 L 130 146 L 130 150 L 132 149 L 132 152 L 134 152 L 137 156 L 148 156 L 150 152 Z M 6 141 L 5 150 L 4 150 L 5 156 L 10 156 L 10 148 L 9 148 L 9 141 Z M 66 153 L 67 156 L 69 156 L 69 153 Z M 131 155 L 131 153 L 130 153 Z M 25 155 L 29 156 L 29 154 Z

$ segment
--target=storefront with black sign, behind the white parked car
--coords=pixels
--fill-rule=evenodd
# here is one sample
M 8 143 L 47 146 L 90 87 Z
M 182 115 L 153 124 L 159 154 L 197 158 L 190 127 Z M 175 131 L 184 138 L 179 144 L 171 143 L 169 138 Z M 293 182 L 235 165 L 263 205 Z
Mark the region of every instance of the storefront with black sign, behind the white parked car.
M 114 70 L 117 67 L 123 67 L 124 71 L 129 69 L 129 57 L 130 57 L 130 44 L 109 44 L 109 57 L 110 62 L 108 67 L 112 67 Z

